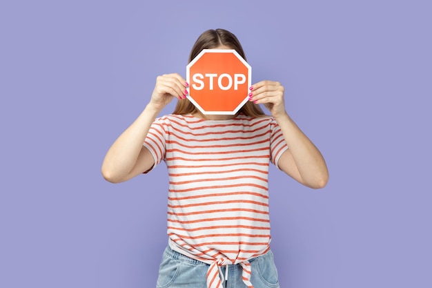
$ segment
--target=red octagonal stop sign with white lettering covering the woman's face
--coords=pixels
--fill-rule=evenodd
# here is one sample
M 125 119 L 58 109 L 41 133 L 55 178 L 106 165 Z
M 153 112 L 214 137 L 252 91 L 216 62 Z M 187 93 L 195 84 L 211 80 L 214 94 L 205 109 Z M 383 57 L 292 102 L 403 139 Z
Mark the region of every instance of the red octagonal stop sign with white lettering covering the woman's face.
M 251 73 L 237 51 L 204 49 L 186 66 L 188 99 L 203 114 L 234 115 L 248 101 Z

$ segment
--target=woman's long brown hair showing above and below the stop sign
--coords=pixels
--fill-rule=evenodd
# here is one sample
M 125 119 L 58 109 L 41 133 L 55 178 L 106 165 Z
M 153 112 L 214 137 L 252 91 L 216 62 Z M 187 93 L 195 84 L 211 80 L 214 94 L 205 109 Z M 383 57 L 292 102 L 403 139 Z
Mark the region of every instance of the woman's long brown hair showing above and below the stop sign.
M 239 55 L 242 56 L 246 61 L 246 56 L 244 55 L 242 45 L 233 33 L 224 29 L 210 29 L 202 33 L 202 35 L 199 35 L 197 41 L 195 41 L 195 44 L 192 47 L 192 50 L 190 50 L 188 62 L 197 57 L 199 52 L 201 52 L 203 49 L 213 49 L 222 45 L 236 50 L 237 53 L 239 53 Z M 177 102 L 177 106 L 175 106 L 173 114 L 185 115 L 194 114 L 197 112 L 199 111 L 192 102 L 190 102 L 188 99 L 183 99 Z M 250 101 L 246 102 L 246 104 L 240 108 L 240 110 L 237 112 L 237 115 L 241 113 L 251 117 L 260 117 L 265 115 L 259 105 Z

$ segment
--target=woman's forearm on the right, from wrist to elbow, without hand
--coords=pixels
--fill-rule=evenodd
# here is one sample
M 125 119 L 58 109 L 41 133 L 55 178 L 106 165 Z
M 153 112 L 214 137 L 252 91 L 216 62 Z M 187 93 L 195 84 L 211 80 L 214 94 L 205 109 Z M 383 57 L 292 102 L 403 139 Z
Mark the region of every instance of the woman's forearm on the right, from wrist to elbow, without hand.
M 295 162 L 303 184 L 322 188 L 328 182 L 328 169 L 322 154 L 288 114 L 275 118 Z

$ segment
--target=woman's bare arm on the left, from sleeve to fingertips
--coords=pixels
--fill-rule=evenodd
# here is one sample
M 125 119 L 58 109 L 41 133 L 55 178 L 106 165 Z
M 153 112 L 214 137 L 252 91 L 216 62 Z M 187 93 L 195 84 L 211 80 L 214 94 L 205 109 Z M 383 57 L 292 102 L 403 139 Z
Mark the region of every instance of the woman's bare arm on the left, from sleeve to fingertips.
M 105 155 L 102 175 L 112 183 L 124 182 L 150 169 L 155 160 L 143 146 L 160 111 L 174 98 L 186 99 L 186 81 L 178 74 L 157 77 L 155 90 L 144 111 L 115 140 Z

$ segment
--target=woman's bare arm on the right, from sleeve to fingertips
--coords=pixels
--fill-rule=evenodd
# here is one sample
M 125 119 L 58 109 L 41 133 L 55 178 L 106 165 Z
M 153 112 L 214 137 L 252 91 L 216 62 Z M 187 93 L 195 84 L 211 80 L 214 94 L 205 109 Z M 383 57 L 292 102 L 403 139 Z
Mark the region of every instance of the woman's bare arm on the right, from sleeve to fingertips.
M 286 113 L 284 87 L 279 82 L 260 81 L 252 86 L 250 99 L 268 108 L 284 135 L 289 148 L 279 158 L 279 168 L 308 187 L 326 186 L 328 169 L 324 157 Z

